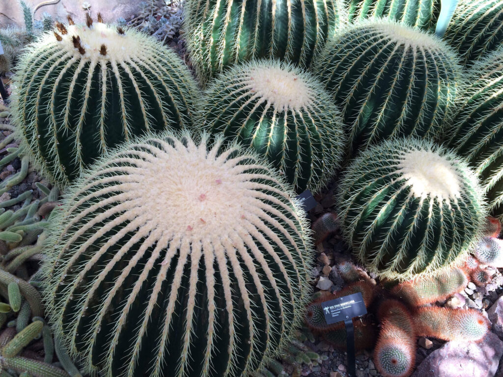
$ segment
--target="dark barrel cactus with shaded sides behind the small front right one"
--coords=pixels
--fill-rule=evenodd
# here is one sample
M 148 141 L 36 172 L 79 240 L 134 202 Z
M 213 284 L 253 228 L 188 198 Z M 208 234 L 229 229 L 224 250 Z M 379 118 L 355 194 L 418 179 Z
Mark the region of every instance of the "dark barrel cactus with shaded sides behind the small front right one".
M 350 155 L 393 136 L 436 136 L 463 79 L 444 42 L 386 20 L 348 28 L 315 70 L 340 106 Z

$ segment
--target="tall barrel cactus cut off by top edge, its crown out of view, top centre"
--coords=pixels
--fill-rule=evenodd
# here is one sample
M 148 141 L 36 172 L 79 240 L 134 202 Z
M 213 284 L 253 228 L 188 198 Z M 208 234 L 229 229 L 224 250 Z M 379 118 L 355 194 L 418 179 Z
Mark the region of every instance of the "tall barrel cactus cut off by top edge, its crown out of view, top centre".
M 253 58 L 279 58 L 308 67 L 347 20 L 345 7 L 342 0 L 189 0 L 184 6 L 188 49 L 203 83 Z

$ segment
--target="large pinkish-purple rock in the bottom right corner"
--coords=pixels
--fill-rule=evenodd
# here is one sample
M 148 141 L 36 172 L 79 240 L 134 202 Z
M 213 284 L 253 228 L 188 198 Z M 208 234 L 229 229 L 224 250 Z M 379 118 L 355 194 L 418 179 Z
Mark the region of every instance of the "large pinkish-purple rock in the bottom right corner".
M 501 355 L 503 342 L 491 332 L 480 343 L 447 342 L 412 377 L 494 377 Z

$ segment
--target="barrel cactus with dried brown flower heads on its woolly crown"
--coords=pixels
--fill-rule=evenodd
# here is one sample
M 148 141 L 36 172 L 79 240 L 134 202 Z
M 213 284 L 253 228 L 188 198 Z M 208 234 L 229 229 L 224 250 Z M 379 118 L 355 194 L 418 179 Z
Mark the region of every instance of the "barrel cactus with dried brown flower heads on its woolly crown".
M 102 21 L 58 23 L 17 66 L 19 136 L 60 185 L 131 136 L 192 125 L 197 89 L 182 60 L 145 34 Z

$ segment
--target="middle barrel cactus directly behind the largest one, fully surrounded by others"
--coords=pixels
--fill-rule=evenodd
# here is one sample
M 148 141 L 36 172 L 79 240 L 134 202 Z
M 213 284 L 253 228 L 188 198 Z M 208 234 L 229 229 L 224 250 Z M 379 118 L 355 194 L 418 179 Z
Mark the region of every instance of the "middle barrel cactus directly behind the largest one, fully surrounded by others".
M 318 191 L 340 166 L 342 120 L 321 83 L 291 64 L 238 65 L 213 80 L 202 122 L 265 155 L 298 192 Z

